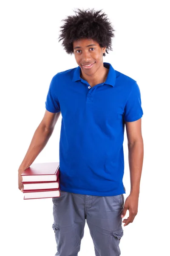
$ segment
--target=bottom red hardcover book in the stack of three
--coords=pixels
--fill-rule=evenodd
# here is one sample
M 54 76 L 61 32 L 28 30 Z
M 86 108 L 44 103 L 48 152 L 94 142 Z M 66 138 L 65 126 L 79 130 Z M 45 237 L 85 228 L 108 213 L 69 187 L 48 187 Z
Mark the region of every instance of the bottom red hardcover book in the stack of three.
M 59 189 L 23 190 L 23 193 L 24 193 L 24 199 L 40 199 L 40 198 L 60 197 Z

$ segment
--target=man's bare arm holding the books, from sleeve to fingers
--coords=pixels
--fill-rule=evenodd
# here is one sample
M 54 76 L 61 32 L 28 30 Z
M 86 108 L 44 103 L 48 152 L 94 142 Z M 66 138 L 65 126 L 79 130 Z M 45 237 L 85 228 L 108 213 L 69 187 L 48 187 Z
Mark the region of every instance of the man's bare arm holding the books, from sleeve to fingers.
M 18 169 L 18 176 L 20 176 L 23 171 L 34 162 L 36 157 L 45 147 L 49 138 L 51 137 L 51 134 L 54 131 L 54 126 L 59 118 L 60 113 L 61 112 L 51 113 L 45 110 L 44 117 L 40 122 L 40 125 L 38 125 L 36 131 L 34 132 L 34 136 L 31 140 L 23 162 L 20 164 L 20 167 Z M 21 189 L 22 187 L 21 180 L 22 177 L 20 177 L 20 180 L 18 181 L 19 189 Z

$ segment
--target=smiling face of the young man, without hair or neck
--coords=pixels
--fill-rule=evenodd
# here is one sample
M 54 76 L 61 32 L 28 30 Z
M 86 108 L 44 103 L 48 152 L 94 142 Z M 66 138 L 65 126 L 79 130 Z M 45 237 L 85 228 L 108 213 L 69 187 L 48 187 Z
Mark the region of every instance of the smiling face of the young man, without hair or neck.
M 93 39 L 83 38 L 73 42 L 77 64 L 86 75 L 93 75 L 103 66 L 103 53 L 106 47 L 100 47 Z

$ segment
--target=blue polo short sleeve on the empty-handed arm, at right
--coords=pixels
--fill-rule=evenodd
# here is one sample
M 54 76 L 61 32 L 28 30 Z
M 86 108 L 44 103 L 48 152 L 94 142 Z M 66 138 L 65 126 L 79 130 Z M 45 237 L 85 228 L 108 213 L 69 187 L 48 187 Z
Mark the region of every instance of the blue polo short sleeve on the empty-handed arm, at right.
M 141 106 L 141 93 L 139 86 L 135 81 L 130 95 L 128 96 L 123 117 L 125 122 L 133 122 L 140 119 L 142 116 L 143 110 Z

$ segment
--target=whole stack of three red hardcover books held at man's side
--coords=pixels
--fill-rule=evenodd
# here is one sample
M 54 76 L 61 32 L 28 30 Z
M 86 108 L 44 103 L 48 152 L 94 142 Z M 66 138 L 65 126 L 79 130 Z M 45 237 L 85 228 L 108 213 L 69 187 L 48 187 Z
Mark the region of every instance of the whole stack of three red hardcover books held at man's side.
M 23 177 L 24 199 L 59 197 L 59 162 L 33 163 Z

